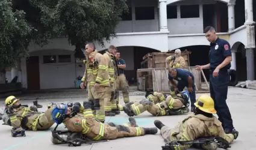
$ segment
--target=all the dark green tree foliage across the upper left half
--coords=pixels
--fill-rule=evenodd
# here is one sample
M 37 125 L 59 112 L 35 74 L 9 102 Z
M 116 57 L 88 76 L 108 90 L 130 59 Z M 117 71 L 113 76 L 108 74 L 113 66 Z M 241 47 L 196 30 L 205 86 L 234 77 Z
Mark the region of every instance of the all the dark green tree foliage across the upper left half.
M 0 66 L 26 56 L 31 41 L 43 46 L 60 35 L 76 50 L 86 41 L 103 46 L 127 10 L 126 0 L 1 0 Z

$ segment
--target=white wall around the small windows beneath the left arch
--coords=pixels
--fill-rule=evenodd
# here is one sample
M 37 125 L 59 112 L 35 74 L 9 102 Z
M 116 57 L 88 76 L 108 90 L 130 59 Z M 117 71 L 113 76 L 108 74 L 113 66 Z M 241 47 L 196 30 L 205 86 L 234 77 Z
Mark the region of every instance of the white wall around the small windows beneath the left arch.
M 70 63 L 43 64 L 43 55 L 71 55 Z M 69 50 L 39 50 L 31 52 L 30 56 L 39 56 L 40 89 L 74 88 L 76 79 L 75 58 Z M 58 56 L 57 56 L 58 62 Z M 27 88 L 27 68 L 25 60 L 22 64 L 22 85 Z

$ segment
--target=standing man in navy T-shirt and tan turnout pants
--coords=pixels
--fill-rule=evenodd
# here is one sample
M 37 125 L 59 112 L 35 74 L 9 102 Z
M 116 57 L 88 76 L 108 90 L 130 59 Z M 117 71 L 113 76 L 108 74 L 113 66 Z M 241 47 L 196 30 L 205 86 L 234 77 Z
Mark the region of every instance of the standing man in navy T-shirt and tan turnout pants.
M 117 67 L 119 71 L 119 76 L 116 79 L 116 88 L 123 92 L 123 101 L 125 103 L 128 103 L 130 101 L 129 99 L 129 87 L 128 83 L 126 81 L 125 77 L 125 68 L 126 64 L 123 59 L 120 58 L 120 52 L 116 52 L 116 61 L 117 61 Z M 117 94 L 118 95 L 118 94 Z M 117 97 L 117 104 L 119 104 L 119 97 Z

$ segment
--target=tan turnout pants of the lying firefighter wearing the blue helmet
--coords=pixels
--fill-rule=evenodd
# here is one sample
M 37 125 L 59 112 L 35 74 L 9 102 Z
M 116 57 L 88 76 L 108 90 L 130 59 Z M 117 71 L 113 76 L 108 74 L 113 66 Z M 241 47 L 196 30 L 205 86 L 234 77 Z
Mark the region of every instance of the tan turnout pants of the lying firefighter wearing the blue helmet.
M 145 131 L 142 127 L 126 127 L 126 125 L 116 125 L 116 127 L 111 127 L 108 124 L 105 126 L 105 135 L 103 140 L 113 140 L 120 137 L 132 137 L 132 136 L 144 136 Z

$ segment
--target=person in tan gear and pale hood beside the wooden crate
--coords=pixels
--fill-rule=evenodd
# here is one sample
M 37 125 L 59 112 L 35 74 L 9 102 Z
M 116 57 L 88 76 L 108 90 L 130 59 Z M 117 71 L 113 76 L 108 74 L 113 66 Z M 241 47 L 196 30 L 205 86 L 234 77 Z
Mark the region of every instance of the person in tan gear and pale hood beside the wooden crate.
M 169 64 L 170 68 L 185 68 L 186 61 L 183 56 L 181 56 L 181 50 L 176 49 L 174 55 L 168 56 L 166 58 L 166 64 Z

